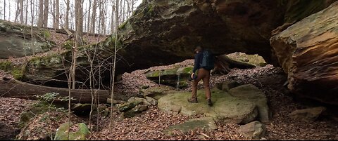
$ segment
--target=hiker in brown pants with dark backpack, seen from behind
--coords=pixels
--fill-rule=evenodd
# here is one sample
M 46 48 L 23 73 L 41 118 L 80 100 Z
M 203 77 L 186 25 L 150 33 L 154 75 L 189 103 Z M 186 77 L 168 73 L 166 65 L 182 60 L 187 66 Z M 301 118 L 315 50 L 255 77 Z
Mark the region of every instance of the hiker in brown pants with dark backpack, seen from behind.
M 197 46 L 195 49 L 194 69 L 192 70 L 192 98 L 188 99 L 188 102 L 197 102 L 197 84 L 203 80 L 203 86 L 206 93 L 206 100 L 208 105 L 211 106 L 211 91 L 209 86 L 210 72 L 213 69 L 213 55 L 210 51 L 204 51 L 201 46 Z M 208 58 L 208 56 L 210 58 Z M 197 71 L 197 74 L 196 74 Z

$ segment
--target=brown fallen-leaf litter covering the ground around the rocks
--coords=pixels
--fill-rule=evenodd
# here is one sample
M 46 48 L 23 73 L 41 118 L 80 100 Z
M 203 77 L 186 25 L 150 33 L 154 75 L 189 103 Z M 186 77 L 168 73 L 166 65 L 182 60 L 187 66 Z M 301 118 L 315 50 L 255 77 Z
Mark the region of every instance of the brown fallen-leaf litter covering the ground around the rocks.
M 117 91 L 136 95 L 140 86 L 158 86 L 158 84 L 146 79 L 144 72 L 170 68 L 174 66 L 192 65 L 193 60 L 186 60 L 175 65 L 151 67 L 123 74 L 123 80 L 116 84 Z M 0 72 L 0 75 L 4 74 Z M 227 75 L 211 76 L 211 87 L 215 83 L 223 81 L 237 81 L 239 83 L 251 83 L 268 96 L 270 110 L 273 115 L 268 123 L 267 133 L 263 140 L 338 140 L 337 110 L 327 106 L 316 121 L 305 122 L 290 119 L 288 114 L 296 109 L 323 105 L 316 102 L 296 98 L 283 86 L 286 76 L 282 69 L 267 65 L 254 69 L 232 69 Z M 191 83 L 189 83 L 191 86 Z M 199 85 L 199 88 L 202 88 Z M 190 88 L 184 89 L 191 91 Z M 20 100 L 16 98 L 0 98 L 0 139 L 11 139 L 19 132 L 17 126 L 19 115 L 34 101 Z M 98 130 L 94 130 L 89 140 L 246 140 L 237 129 L 241 125 L 232 123 L 216 123 L 216 130 L 192 130 L 189 133 L 174 133 L 165 135 L 163 130 L 177 123 L 183 123 L 195 117 L 187 117 L 181 114 L 172 115 L 161 112 L 157 107 L 151 107 L 146 112 L 133 118 L 122 119 L 120 113 L 113 114 L 113 129 L 110 128 L 109 117 L 99 117 Z M 199 117 L 199 116 L 196 116 Z M 13 139 L 13 138 L 12 138 Z

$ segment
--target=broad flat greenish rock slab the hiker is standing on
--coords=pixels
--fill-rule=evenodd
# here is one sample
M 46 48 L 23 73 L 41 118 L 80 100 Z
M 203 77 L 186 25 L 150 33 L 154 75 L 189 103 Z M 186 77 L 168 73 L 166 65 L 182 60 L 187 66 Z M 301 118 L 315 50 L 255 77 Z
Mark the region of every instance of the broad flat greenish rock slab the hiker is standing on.
M 180 113 L 187 116 L 205 114 L 214 119 L 244 124 L 253 121 L 258 115 L 255 103 L 235 98 L 217 88 L 211 90 L 212 107 L 207 105 L 204 90 L 197 90 L 198 103 L 187 102 L 191 95 L 189 92 L 165 95 L 158 100 L 158 107 L 169 113 Z

